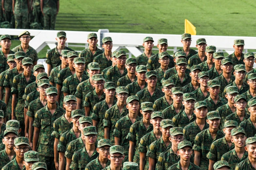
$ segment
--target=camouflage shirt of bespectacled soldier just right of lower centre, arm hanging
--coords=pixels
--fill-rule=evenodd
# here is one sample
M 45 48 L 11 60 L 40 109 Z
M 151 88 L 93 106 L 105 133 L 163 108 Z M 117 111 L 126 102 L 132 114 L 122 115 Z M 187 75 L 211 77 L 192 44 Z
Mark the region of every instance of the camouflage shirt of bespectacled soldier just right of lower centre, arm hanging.
M 140 140 L 144 135 L 150 133 L 152 130 L 153 124 L 150 123 L 149 127 L 146 129 L 143 124 L 143 119 L 131 125 L 130 132 L 126 136 L 126 139 L 134 142 L 132 162 L 140 164 L 140 152 L 138 150 Z

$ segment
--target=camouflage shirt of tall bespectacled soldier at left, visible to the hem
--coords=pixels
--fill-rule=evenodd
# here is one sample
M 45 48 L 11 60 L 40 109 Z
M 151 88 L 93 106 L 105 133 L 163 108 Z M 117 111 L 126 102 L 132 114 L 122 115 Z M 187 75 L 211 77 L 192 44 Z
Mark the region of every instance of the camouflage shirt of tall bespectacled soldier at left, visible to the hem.
M 51 136 L 54 129 L 54 122 L 61 117 L 66 111 L 57 106 L 57 109 L 51 114 L 47 105 L 38 110 L 35 114 L 33 126 L 40 129 L 37 152 L 43 156 L 54 156 L 53 145 L 55 138 Z

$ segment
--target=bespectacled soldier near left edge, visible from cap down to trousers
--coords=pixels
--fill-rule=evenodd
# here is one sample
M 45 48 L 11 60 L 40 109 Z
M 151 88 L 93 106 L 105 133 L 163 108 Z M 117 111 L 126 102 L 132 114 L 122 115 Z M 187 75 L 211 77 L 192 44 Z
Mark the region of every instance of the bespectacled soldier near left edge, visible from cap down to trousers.
M 31 74 L 31 69 L 33 68 L 33 62 L 31 58 L 26 57 L 22 59 L 22 68 L 24 68 L 24 72 L 13 78 L 13 83 L 11 88 L 11 93 L 12 93 L 11 118 L 14 120 L 17 119 L 20 122 L 22 131 L 19 134 L 19 136 L 25 135 L 25 116 L 26 116 L 24 114 L 25 100 L 22 99 L 22 96 L 25 93 L 25 87 L 28 84 L 36 81 L 36 77 Z M 26 79 L 29 79 L 29 81 L 27 81 Z

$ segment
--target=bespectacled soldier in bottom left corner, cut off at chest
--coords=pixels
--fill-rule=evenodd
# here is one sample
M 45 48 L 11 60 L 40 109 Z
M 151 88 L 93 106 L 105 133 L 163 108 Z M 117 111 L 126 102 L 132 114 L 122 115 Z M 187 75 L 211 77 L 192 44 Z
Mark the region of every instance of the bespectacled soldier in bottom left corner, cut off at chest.
M 26 137 L 17 137 L 14 139 L 14 146 L 13 149 L 15 151 L 16 157 L 12 158 L 12 161 L 7 163 L 2 170 L 20 170 L 25 169 L 23 165 L 24 161 L 24 154 L 29 149 L 28 138 Z

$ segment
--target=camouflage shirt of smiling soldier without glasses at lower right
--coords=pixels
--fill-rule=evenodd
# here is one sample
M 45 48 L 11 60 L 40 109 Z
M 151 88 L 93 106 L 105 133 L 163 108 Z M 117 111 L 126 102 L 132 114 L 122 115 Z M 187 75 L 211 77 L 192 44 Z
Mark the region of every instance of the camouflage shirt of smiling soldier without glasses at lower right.
M 224 136 L 225 134 L 218 130 L 217 135 L 213 140 L 209 128 L 196 135 L 193 149 L 201 153 L 200 167 L 202 170 L 208 170 L 209 168 L 209 159 L 206 157 L 206 155 L 211 148 L 211 144 Z

